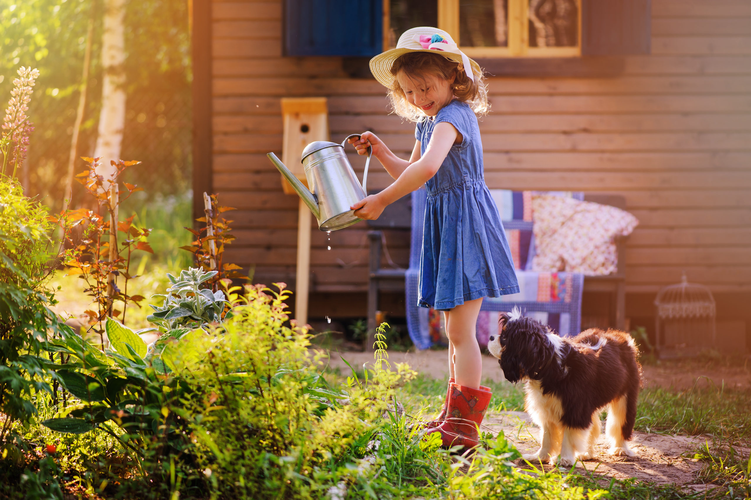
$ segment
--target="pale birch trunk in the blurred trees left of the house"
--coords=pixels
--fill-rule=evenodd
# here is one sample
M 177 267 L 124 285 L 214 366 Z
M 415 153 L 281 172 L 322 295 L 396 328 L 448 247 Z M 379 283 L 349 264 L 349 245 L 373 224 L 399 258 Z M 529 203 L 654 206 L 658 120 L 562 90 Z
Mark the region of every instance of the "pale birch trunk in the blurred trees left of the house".
M 115 171 L 110 160 L 120 159 L 122 129 L 125 126 L 124 17 L 125 0 L 104 0 L 104 35 L 101 47 L 104 80 L 94 157 L 102 157 L 97 174 L 104 176 L 105 189 L 108 189 L 107 181 Z

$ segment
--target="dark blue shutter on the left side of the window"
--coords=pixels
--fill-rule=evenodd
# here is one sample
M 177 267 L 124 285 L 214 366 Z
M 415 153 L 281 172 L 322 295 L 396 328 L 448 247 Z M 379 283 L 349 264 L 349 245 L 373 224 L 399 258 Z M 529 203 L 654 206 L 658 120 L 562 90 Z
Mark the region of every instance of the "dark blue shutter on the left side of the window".
M 381 53 L 382 0 L 285 0 L 286 56 Z

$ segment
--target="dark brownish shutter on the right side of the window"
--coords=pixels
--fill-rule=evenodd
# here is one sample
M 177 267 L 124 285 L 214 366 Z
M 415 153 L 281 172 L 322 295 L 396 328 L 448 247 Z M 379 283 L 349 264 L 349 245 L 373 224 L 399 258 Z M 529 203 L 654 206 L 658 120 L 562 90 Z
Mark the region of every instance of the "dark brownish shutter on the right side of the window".
M 582 55 L 650 53 L 651 0 L 582 0 L 581 4 Z

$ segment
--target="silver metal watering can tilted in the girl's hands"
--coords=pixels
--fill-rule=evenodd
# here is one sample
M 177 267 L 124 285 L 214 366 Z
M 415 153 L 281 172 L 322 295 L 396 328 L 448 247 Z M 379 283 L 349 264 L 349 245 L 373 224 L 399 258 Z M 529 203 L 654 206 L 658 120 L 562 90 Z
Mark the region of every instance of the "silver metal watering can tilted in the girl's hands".
M 268 153 L 274 166 L 282 172 L 282 175 L 291 186 L 303 198 L 305 205 L 318 219 L 318 229 L 321 231 L 336 231 L 344 229 L 354 223 L 360 222 L 355 217 L 350 206 L 367 196 L 366 183 L 368 179 L 368 166 L 372 147 L 368 146 L 368 158 L 365 161 L 363 172 L 363 184 L 357 181 L 352 165 L 349 164 L 344 154 L 344 145 L 350 138 L 360 138 L 360 134 L 348 135 L 342 144 L 329 141 L 315 141 L 308 144 L 303 150 L 303 168 L 310 192 L 297 177 L 279 161 L 274 153 Z

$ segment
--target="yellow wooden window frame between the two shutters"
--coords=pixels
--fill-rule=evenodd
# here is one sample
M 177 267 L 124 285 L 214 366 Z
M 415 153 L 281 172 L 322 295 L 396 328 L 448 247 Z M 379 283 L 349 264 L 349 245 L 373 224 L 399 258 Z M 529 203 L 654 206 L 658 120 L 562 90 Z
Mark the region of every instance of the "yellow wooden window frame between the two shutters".
M 529 0 L 508 1 L 507 47 L 459 47 L 469 57 L 580 57 L 582 0 L 575 0 L 578 12 L 578 34 L 575 47 L 529 47 Z M 460 0 L 433 0 L 438 3 L 438 28 L 460 40 Z M 383 50 L 389 50 L 391 35 L 391 2 L 383 0 Z

